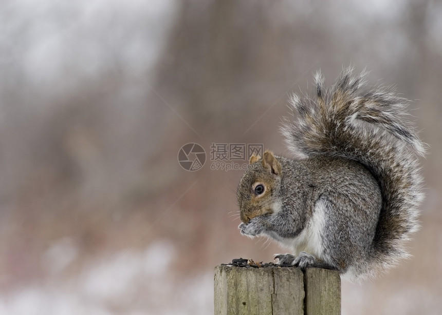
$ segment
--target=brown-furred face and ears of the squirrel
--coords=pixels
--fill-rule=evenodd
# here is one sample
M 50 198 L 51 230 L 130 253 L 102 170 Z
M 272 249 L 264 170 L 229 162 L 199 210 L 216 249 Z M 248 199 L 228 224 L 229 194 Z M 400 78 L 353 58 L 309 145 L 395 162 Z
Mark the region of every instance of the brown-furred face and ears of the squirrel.
M 281 164 L 272 152 L 265 151 L 262 159 L 255 155 L 250 157 L 250 167 L 244 173 L 238 187 L 241 221 L 248 223 L 256 216 L 273 213 L 272 195 L 280 174 Z M 264 186 L 262 194 L 255 193 L 258 185 Z

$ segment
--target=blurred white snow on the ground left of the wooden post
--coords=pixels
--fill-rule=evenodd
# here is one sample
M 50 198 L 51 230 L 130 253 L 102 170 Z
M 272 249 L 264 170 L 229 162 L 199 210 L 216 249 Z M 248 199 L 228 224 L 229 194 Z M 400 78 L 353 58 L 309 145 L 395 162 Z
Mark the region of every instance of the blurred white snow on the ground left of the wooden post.
M 51 257 L 54 252 L 62 254 L 76 252 L 76 249 L 72 249 L 71 241 L 64 239 L 49 248 L 46 256 Z M 142 251 L 115 252 L 96 258 L 79 275 L 50 278 L 42 285 L 28 285 L 4 294 L 0 297 L 0 314 L 198 315 L 213 312 L 213 270 L 178 279 L 170 271 L 175 259 L 176 248 L 165 239 L 154 241 Z M 65 265 L 65 262 L 55 265 Z

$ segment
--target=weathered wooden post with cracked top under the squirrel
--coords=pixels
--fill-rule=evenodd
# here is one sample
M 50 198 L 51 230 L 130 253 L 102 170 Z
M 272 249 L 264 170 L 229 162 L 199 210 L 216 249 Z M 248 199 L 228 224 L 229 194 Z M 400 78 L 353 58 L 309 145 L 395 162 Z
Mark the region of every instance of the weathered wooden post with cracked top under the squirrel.
M 338 272 L 295 267 L 215 267 L 215 315 L 340 314 Z

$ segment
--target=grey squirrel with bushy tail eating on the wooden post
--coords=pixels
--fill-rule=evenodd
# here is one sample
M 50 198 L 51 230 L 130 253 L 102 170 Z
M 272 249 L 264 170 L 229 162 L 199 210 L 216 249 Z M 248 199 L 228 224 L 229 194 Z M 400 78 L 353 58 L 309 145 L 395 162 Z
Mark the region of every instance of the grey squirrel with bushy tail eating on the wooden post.
M 283 118 L 298 159 L 250 157 L 237 189 L 239 228 L 288 247 L 278 264 L 360 281 L 410 257 L 404 243 L 419 227 L 426 145 L 404 120 L 408 101 L 390 88 L 364 91 L 366 75 L 344 69 L 330 89 L 318 72 L 315 95 L 294 94 L 293 118 Z

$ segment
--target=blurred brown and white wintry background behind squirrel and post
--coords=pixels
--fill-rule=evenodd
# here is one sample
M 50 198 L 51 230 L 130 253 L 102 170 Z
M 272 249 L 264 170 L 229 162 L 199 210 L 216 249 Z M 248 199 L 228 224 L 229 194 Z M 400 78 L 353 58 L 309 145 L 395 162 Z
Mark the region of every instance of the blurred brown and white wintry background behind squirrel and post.
M 0 314 L 213 313 L 214 266 L 284 250 L 239 233 L 243 171 L 211 145 L 287 155 L 289 94 L 348 65 L 412 100 L 431 147 L 413 258 L 343 282 L 342 313 L 440 313 L 441 34 L 440 1 L 2 1 Z

